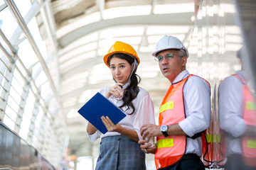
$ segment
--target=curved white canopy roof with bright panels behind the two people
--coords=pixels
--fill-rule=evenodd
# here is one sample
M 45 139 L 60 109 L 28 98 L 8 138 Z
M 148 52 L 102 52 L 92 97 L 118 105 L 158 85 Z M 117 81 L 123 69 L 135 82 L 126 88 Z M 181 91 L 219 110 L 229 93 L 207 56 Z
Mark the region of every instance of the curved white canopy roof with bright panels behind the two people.
M 87 142 L 86 121 L 77 111 L 102 87 L 114 84 L 102 57 L 117 40 L 137 50 L 140 86 L 149 91 L 157 113 L 169 81 L 151 53 L 163 35 L 174 35 L 188 46 L 195 4 L 188 0 L 56 0 L 51 6 L 55 21 L 49 23 L 51 30 L 42 27 L 41 33 L 46 38 L 53 35 L 58 53 L 59 91 L 68 116 L 70 151 L 90 154 L 86 153 L 92 145 Z

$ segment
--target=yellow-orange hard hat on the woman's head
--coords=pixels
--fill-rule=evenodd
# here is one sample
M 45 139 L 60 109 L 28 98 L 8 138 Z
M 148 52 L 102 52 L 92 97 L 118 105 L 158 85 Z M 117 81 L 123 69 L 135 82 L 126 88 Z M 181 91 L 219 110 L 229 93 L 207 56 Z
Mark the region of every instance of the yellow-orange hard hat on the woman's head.
M 112 45 L 110 47 L 110 50 L 107 52 L 107 55 L 105 55 L 103 57 L 103 60 L 104 60 L 105 64 L 107 65 L 107 67 L 110 67 L 110 65 L 108 64 L 109 57 L 111 55 L 114 55 L 115 53 L 124 53 L 126 55 L 132 55 L 133 57 L 135 57 L 137 59 L 137 62 L 139 65 L 139 57 L 137 55 L 137 52 L 134 50 L 134 48 L 127 43 L 117 41 L 114 43 L 114 45 Z

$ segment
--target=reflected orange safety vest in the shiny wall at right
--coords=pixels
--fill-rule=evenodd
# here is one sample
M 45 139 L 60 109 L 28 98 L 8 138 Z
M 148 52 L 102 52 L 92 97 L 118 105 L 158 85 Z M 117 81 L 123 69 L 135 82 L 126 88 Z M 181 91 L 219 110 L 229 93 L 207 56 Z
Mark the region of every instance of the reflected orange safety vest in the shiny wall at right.
M 255 98 L 247 86 L 244 79 L 237 74 L 233 76 L 238 77 L 242 81 L 242 94 L 243 94 L 243 113 L 242 118 L 245 120 L 246 125 L 256 127 L 256 102 Z M 256 167 L 256 137 L 242 137 L 242 156 L 245 164 Z

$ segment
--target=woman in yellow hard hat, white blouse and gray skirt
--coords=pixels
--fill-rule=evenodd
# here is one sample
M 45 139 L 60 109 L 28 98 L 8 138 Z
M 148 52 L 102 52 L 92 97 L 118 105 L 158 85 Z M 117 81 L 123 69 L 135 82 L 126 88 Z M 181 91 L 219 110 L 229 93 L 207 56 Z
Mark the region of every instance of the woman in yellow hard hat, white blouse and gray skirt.
M 149 93 L 138 86 L 140 78 L 136 71 L 139 57 L 131 45 L 117 41 L 103 60 L 110 68 L 115 84 L 101 89 L 100 94 L 122 109 L 127 116 L 117 125 L 110 118 L 102 116 L 102 122 L 108 130 L 104 135 L 88 123 L 90 140 L 94 142 L 101 138 L 96 169 L 146 169 L 145 153 L 138 144 L 142 139 L 139 130 L 146 123 L 155 124 L 155 120 Z

